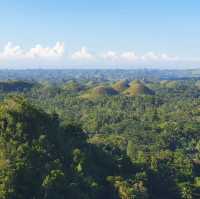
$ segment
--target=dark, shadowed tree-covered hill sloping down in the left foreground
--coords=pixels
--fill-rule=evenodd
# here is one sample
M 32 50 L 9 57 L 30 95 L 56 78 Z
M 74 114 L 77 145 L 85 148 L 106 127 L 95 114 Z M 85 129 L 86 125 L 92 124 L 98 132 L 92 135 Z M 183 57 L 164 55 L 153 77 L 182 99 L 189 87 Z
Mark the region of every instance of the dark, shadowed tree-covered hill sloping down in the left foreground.
M 115 191 L 119 180 L 128 190 L 125 198 L 146 194 L 133 190 L 121 175 L 136 175 L 127 157 L 116 161 L 100 146 L 88 144 L 79 126 L 61 125 L 58 115 L 24 98 L 0 103 L 0 132 L 2 199 L 123 198 Z

